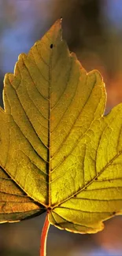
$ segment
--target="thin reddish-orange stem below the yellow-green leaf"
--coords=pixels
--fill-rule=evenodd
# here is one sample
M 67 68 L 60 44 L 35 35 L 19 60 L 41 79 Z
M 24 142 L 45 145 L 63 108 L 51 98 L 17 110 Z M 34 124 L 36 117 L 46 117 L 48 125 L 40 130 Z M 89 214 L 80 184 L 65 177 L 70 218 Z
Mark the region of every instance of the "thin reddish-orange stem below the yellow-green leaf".
M 48 213 L 47 213 L 46 219 L 43 225 L 42 235 L 41 235 L 40 256 L 46 256 L 46 239 L 47 239 L 47 233 L 49 228 L 50 228 L 50 222 L 48 220 Z

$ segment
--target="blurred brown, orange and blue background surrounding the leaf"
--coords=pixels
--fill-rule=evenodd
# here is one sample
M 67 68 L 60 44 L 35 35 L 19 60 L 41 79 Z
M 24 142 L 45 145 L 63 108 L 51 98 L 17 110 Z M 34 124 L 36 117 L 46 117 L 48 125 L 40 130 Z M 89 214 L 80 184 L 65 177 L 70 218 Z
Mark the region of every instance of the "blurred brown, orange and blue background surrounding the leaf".
M 17 56 L 63 17 L 63 37 L 83 67 L 98 69 L 106 84 L 106 112 L 122 102 L 122 0 L 0 0 L 0 104 L 3 78 Z M 0 256 L 39 256 L 45 214 L 0 225 Z M 122 256 L 122 217 L 95 235 L 50 227 L 47 256 Z

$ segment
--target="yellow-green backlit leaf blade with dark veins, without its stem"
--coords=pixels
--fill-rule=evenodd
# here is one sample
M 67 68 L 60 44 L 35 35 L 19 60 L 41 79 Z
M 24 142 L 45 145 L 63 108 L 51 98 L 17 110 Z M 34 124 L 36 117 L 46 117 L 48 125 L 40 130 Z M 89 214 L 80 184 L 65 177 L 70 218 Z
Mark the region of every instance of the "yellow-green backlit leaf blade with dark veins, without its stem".
M 0 109 L 0 221 L 49 212 L 94 233 L 122 213 L 122 104 L 106 116 L 105 85 L 61 38 L 61 20 L 6 74 Z

